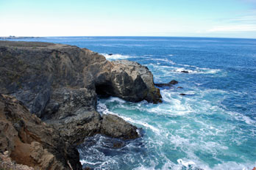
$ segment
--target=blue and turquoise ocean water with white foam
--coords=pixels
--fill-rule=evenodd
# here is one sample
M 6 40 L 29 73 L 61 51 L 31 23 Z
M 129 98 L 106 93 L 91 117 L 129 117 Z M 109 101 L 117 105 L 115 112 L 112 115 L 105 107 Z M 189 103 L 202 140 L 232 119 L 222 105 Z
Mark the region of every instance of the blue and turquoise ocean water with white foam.
M 129 59 L 152 71 L 163 103 L 99 98 L 142 138 L 88 138 L 79 146 L 93 169 L 253 169 L 256 166 L 256 40 L 199 37 L 46 37 L 89 48 L 109 60 Z M 109 56 L 108 53 L 113 53 Z M 182 73 L 185 70 L 188 73 Z M 182 86 L 182 89 L 177 88 Z M 179 95 L 187 94 L 185 96 Z M 123 147 L 113 148 L 113 140 Z

